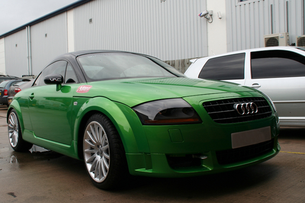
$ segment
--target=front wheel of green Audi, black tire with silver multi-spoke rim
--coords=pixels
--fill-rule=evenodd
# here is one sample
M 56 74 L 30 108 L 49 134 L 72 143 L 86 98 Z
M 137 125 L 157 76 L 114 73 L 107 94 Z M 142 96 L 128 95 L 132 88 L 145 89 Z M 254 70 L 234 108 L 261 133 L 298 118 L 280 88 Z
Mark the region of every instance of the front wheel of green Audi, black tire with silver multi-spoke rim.
M 124 185 L 129 175 L 125 150 L 109 118 L 92 115 L 83 134 L 84 163 L 93 184 L 101 189 Z

